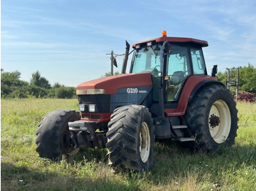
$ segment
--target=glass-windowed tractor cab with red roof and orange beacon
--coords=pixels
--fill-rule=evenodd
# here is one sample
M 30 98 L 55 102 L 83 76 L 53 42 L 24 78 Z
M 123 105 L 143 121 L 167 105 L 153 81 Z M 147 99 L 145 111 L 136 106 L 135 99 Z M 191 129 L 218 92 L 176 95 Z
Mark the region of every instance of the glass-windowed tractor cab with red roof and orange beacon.
M 165 104 L 178 101 L 181 89 L 192 75 L 207 75 L 202 47 L 208 42 L 181 37 L 162 37 L 138 42 L 129 73 L 151 72 L 154 101 L 159 100 L 159 87 L 165 87 Z

